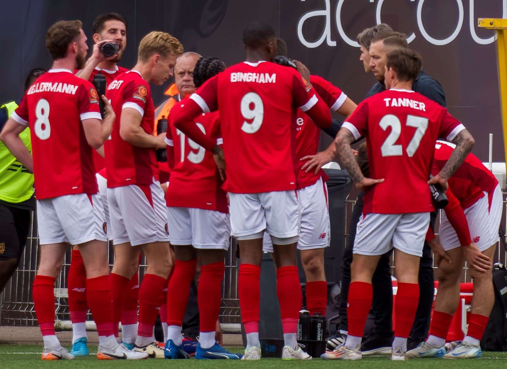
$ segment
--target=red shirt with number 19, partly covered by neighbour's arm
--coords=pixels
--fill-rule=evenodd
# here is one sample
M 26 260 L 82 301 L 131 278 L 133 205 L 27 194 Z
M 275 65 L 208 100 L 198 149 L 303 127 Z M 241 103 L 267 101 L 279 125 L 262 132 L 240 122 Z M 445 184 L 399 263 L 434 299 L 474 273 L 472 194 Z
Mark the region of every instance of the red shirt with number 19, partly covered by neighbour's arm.
M 172 108 L 181 108 L 185 100 Z M 171 168 L 166 192 L 167 206 L 191 207 L 229 212 L 227 197 L 221 189 L 222 180 L 216 168 L 213 154 L 186 137 L 174 127 L 169 114 L 167 121 L 167 158 Z M 207 136 L 222 144 L 219 113 L 201 114 L 194 122 Z

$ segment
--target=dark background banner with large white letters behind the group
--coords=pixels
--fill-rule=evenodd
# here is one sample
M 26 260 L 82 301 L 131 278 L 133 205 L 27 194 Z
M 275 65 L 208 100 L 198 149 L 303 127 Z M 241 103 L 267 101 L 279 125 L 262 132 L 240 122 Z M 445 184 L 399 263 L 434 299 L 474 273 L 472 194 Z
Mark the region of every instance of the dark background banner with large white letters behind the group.
M 31 68 L 50 67 L 45 32 L 53 22 L 80 19 L 91 40 L 93 19 L 109 11 L 129 22 L 122 66 L 133 66 L 140 39 L 152 30 L 176 36 L 186 51 L 233 64 L 244 56 L 245 24 L 265 20 L 287 42 L 292 58 L 355 102 L 375 82 L 358 60 L 355 37 L 379 21 L 388 23 L 410 35 L 410 47 L 422 54 L 426 72 L 443 85 L 451 114 L 476 138 L 473 152 L 486 161 L 488 133 L 494 133 L 493 160 L 504 161 L 494 32 L 476 24 L 479 17 L 506 17 L 507 0 L 3 1 L 0 101 L 20 98 Z M 153 88 L 155 104 L 163 90 Z

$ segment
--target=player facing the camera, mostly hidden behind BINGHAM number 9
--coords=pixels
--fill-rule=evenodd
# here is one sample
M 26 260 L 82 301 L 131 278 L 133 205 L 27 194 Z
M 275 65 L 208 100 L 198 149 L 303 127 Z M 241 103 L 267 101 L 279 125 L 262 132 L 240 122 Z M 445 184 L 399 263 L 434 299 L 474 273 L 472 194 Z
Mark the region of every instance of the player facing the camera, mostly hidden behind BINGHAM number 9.
M 277 40 L 277 54 L 287 57 L 287 48 L 281 39 Z M 348 117 L 356 108 L 357 105 L 331 82 L 318 76 L 310 76 L 310 83 L 331 110 Z M 329 246 L 330 241 L 328 189 L 325 185 L 328 177 L 320 167 L 315 171 L 306 170 L 309 165 L 307 159 L 317 154 L 320 131 L 305 113 L 298 110 L 296 170 L 298 199 L 301 202 L 298 249 L 301 250 L 301 264 L 306 276 L 306 307 L 310 315 L 325 315 L 328 304 L 328 283 L 324 271 L 324 249 Z M 333 133 L 333 139 L 335 136 L 336 133 Z M 267 234 L 264 235 L 263 243 L 264 251 L 273 252 L 273 244 Z M 275 260 L 275 263 L 278 262 Z

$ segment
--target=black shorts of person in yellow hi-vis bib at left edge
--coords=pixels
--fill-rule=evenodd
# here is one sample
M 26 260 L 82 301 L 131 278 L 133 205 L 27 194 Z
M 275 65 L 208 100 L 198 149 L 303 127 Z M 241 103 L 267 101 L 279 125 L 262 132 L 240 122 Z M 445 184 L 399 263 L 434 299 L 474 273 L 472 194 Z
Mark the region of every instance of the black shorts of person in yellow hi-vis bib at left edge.
M 19 259 L 30 230 L 30 210 L 0 204 L 0 261 Z

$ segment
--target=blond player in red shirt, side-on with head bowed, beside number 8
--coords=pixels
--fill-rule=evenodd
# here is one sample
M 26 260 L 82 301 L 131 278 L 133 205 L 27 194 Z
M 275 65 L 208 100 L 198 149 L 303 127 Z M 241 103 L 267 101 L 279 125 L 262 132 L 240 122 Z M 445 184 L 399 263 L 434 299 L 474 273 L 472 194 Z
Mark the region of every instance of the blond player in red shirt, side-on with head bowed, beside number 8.
M 139 327 L 134 350 L 164 357 L 153 337 L 170 270 L 169 233 L 164 191 L 155 179 L 157 148 L 165 149 L 165 133 L 152 135 L 155 108 L 149 82 L 162 85 L 173 75 L 183 46 L 165 32 L 153 31 L 139 44 L 137 64 L 108 87 L 106 96 L 116 113 L 111 139 L 104 144 L 115 265 L 115 324 L 125 301 L 124 292 L 137 271 L 142 250 L 147 271 L 139 289 Z

